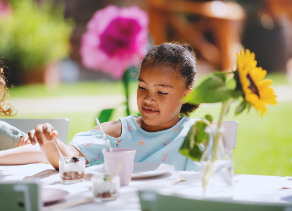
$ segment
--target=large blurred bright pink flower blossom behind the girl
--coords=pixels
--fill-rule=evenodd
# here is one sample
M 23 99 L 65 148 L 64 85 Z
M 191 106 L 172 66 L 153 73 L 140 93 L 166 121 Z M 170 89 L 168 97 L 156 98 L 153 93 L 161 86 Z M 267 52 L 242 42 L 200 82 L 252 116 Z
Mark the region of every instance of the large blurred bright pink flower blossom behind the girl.
M 82 35 L 80 55 L 85 67 L 115 79 L 134 65 L 134 55 L 148 43 L 148 16 L 137 6 L 110 5 L 92 16 Z

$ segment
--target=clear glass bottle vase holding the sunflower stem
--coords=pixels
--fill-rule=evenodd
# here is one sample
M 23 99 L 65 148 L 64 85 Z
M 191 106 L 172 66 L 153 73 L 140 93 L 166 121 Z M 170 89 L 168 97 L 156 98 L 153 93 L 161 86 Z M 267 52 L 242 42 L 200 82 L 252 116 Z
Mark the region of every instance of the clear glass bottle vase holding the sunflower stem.
M 224 128 L 206 127 L 207 146 L 201 157 L 203 195 L 208 198 L 233 198 L 233 162 L 224 145 Z

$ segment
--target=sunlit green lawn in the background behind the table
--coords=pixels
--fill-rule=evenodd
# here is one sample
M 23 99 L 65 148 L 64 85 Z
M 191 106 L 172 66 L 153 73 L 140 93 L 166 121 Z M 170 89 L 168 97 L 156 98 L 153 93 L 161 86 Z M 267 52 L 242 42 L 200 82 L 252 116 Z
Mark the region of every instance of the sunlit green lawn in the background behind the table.
M 270 74 L 267 78 L 274 81 L 274 85 L 286 84 L 284 74 Z M 131 82 L 131 93 L 136 92 L 137 82 Z M 43 85 L 19 86 L 10 89 L 11 97 L 52 97 L 62 95 L 111 95 L 123 94 L 121 82 L 78 82 L 63 83 L 57 90 L 47 89 Z M 292 175 L 292 101 L 279 102 L 276 106 L 268 106 L 268 116 L 259 117 L 255 109 L 249 114 L 234 116 L 236 105 L 232 105 L 224 120 L 238 121 L 237 146 L 233 150 L 234 168 L 236 174 L 255 174 L 272 176 Z M 218 120 L 219 104 L 201 105 L 191 117 L 201 118 L 205 114 L 212 114 Z M 98 114 L 90 111 L 66 114 L 17 114 L 13 118 L 57 118 L 70 119 L 68 141 L 77 132 L 90 130 L 95 126 L 94 118 Z M 117 120 L 125 114 L 116 113 Z

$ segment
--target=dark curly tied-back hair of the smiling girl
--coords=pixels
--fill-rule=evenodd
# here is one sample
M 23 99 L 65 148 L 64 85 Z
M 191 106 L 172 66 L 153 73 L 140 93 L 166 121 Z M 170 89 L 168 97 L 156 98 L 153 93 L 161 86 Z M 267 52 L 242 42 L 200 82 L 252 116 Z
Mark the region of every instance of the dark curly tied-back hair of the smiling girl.
M 191 46 L 178 42 L 164 43 L 150 49 L 143 58 L 141 67 L 163 65 L 174 69 L 185 82 L 185 88 L 192 88 L 196 76 L 196 55 Z M 141 68 L 140 67 L 140 68 Z M 180 116 L 189 116 L 199 105 L 184 103 Z

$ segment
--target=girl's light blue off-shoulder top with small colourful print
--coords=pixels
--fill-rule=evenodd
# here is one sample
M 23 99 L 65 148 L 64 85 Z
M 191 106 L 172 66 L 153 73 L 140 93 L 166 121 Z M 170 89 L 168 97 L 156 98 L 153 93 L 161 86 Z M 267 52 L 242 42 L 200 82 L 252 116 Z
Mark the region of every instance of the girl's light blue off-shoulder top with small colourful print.
M 195 119 L 186 116 L 172 128 L 157 132 L 147 132 L 136 122 L 139 116 L 130 115 L 120 118 L 122 134 L 118 138 L 106 135 L 111 147 L 135 148 L 135 162 L 166 163 L 175 166 L 175 170 L 200 171 L 200 163 L 186 157 L 179 152 L 187 132 Z M 86 146 L 85 144 L 89 144 Z M 99 130 L 79 132 L 69 143 L 76 147 L 86 157 L 89 165 L 103 163 L 102 149 L 107 148 Z M 202 146 L 203 147 L 203 146 Z M 98 153 L 100 152 L 99 156 Z M 151 156 L 150 156 L 151 155 Z M 99 159 L 96 159 L 98 158 Z

